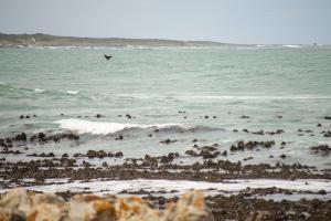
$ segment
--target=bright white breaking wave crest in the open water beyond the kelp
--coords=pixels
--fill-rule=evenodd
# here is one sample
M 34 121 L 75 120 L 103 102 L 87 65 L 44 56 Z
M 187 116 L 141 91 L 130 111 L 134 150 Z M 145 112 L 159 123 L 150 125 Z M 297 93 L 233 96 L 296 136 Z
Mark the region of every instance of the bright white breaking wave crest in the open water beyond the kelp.
M 108 135 L 129 128 L 166 128 L 178 126 L 175 124 L 142 125 L 142 124 L 120 124 L 105 122 L 89 122 L 84 119 L 61 119 L 55 122 L 63 129 L 75 130 L 78 134 Z

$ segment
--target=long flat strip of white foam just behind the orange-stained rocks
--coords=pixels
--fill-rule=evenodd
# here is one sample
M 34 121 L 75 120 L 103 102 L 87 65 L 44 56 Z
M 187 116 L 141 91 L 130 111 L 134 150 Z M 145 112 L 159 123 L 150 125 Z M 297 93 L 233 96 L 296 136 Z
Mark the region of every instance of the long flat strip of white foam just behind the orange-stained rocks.
M 50 180 L 52 181 L 52 180 Z M 64 180 L 65 181 L 65 180 Z M 29 187 L 26 189 L 40 190 L 44 192 L 61 192 L 73 191 L 79 192 L 84 188 L 88 187 L 92 192 L 118 193 L 122 190 L 138 191 L 140 189 L 148 191 L 161 191 L 161 190 L 177 190 L 178 194 L 181 194 L 190 189 L 200 189 L 206 191 L 206 194 L 222 192 L 236 193 L 246 188 L 281 188 L 288 190 L 306 190 L 306 191 L 319 191 L 321 189 L 327 192 L 331 192 L 331 186 L 329 180 L 321 179 L 298 179 L 298 180 L 277 180 L 277 179 L 234 179 L 224 180 L 223 182 L 206 182 L 206 181 L 189 181 L 189 180 L 93 180 L 92 182 L 74 181 L 68 183 L 56 183 L 47 186 Z M 102 192 L 103 190 L 103 192 Z M 106 190 L 106 191 L 105 191 Z M 4 192 L 6 190 L 0 190 Z

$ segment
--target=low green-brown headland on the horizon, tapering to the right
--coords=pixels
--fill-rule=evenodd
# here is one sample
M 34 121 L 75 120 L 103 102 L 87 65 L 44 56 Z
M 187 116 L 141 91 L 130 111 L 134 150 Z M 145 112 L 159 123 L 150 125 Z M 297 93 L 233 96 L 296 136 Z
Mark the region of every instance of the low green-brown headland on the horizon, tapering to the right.
M 2 46 L 221 46 L 220 42 L 175 41 L 160 39 L 120 39 L 120 38 L 75 38 L 50 34 L 3 34 L 0 33 Z

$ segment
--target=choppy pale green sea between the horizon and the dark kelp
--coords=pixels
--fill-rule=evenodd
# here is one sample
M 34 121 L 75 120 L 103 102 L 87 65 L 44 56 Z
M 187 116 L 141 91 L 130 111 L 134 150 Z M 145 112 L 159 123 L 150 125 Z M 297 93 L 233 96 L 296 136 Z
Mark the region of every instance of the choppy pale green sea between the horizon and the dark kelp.
M 114 59 L 107 62 L 104 54 Z M 309 151 L 312 145 L 331 144 L 320 134 L 331 129 L 331 120 L 323 119 L 331 115 L 328 46 L 1 49 L 0 67 L 0 137 L 74 130 L 84 143 L 29 144 L 24 152 L 105 149 L 140 157 L 184 152 L 194 138 L 200 144 L 218 143 L 221 150 L 239 139 L 275 139 L 277 145 L 269 150 L 227 159 L 252 156 L 249 164 L 331 168 L 329 156 Z M 38 117 L 19 119 L 33 114 Z M 106 117 L 96 118 L 96 114 Z M 317 127 L 319 123 L 322 127 Z M 159 133 L 153 131 L 156 127 Z M 244 128 L 285 133 L 261 136 L 241 131 Z M 312 133 L 298 136 L 298 129 Z M 124 140 L 115 140 L 119 134 Z M 166 138 L 178 141 L 160 144 Z M 285 149 L 279 149 L 280 141 L 288 143 Z M 289 157 L 277 157 L 284 152 Z M 269 159 L 269 155 L 276 157 Z

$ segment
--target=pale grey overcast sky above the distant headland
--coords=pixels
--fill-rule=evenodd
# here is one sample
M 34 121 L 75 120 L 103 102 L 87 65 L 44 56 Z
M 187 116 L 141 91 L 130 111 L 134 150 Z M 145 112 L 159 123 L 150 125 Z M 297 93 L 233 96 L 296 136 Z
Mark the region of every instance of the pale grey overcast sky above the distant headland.
M 1 33 L 331 43 L 331 0 L 0 0 Z

